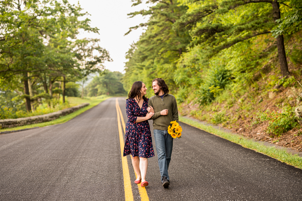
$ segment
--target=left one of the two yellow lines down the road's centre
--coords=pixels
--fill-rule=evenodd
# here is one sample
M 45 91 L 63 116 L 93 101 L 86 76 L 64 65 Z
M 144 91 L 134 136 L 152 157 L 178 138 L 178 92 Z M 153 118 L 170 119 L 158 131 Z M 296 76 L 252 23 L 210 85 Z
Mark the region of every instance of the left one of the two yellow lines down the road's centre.
M 118 106 L 118 101 L 116 99 L 115 100 L 115 107 L 116 107 L 116 112 L 117 112 L 118 133 L 119 133 L 119 136 L 120 136 L 120 153 L 121 153 L 121 156 L 122 156 L 125 200 L 126 201 L 133 201 L 133 194 L 132 194 L 132 188 L 131 188 L 131 182 L 130 182 L 130 174 L 129 174 L 128 162 L 127 162 L 127 158 L 123 157 L 124 138 L 123 138 L 122 126 L 120 125 L 120 114 L 118 112 L 118 107 L 117 106 Z

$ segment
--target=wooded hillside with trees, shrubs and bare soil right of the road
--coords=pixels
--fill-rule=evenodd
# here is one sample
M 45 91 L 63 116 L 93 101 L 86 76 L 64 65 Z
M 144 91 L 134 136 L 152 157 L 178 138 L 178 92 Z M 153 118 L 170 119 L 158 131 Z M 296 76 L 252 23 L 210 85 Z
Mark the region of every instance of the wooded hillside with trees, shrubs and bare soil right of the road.
M 302 2 L 153 3 L 127 53 L 125 88 L 161 77 L 183 116 L 302 151 Z M 152 96 L 152 91 L 147 92 Z

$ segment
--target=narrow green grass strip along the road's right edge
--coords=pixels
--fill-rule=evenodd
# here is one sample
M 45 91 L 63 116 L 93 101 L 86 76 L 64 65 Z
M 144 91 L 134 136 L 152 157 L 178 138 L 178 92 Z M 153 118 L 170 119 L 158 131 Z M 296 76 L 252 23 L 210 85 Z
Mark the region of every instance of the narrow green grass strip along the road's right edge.
M 186 123 L 190 126 L 194 126 L 196 128 L 202 129 L 206 132 L 212 133 L 216 136 L 222 137 L 224 139 L 227 139 L 231 142 L 234 142 L 236 144 L 239 144 L 245 148 L 252 149 L 256 152 L 260 152 L 262 154 L 268 155 L 272 158 L 277 159 L 278 161 L 284 162 L 286 164 L 292 165 L 296 168 L 302 169 L 302 158 L 299 157 L 297 154 L 291 155 L 288 152 L 286 152 L 285 149 L 277 149 L 275 147 L 267 147 L 265 145 L 262 145 L 259 142 L 254 142 L 252 139 L 248 139 L 242 136 L 234 135 L 232 133 L 224 132 L 222 130 L 213 128 L 212 126 L 206 126 L 204 124 L 201 124 L 199 122 L 185 119 L 182 116 L 179 116 L 179 121 Z

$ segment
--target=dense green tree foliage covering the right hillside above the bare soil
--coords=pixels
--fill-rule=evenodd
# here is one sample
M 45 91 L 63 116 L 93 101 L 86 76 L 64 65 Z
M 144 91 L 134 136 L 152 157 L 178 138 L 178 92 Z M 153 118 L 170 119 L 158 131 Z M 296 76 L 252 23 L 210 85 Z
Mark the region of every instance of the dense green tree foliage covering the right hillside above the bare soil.
M 143 3 L 133 2 L 133 6 Z M 259 72 L 265 73 L 262 66 L 276 52 L 278 74 L 291 75 L 283 34 L 287 37 L 302 28 L 300 1 L 145 2 L 153 3 L 148 11 L 129 14 L 149 15 L 150 19 L 137 26 L 145 26 L 146 32 L 127 53 L 127 90 L 136 80 L 150 86 L 153 78 L 162 77 L 178 101 L 195 94 L 199 103 L 207 104 L 225 88 L 233 88 L 236 93 L 254 82 Z M 300 62 L 297 54 L 301 50 L 297 47 L 295 51 L 290 57 L 293 62 Z M 148 94 L 152 95 L 152 91 Z

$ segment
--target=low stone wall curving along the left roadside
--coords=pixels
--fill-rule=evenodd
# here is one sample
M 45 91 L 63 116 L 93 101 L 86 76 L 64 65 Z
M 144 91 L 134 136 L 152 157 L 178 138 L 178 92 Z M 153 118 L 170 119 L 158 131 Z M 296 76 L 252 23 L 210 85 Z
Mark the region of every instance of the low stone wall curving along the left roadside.
M 61 116 L 65 116 L 67 114 L 73 113 L 76 110 L 79 110 L 80 108 L 86 107 L 88 105 L 89 105 L 89 103 L 83 103 L 78 106 L 66 108 L 64 110 L 60 110 L 60 111 L 49 113 L 49 114 L 43 114 L 43 115 L 38 115 L 38 116 L 29 116 L 29 117 L 23 117 L 23 118 L 18 118 L 18 119 L 0 120 L 0 128 L 12 128 L 12 127 L 16 127 L 16 126 L 24 126 L 27 124 L 52 121 L 52 120 L 58 119 Z

